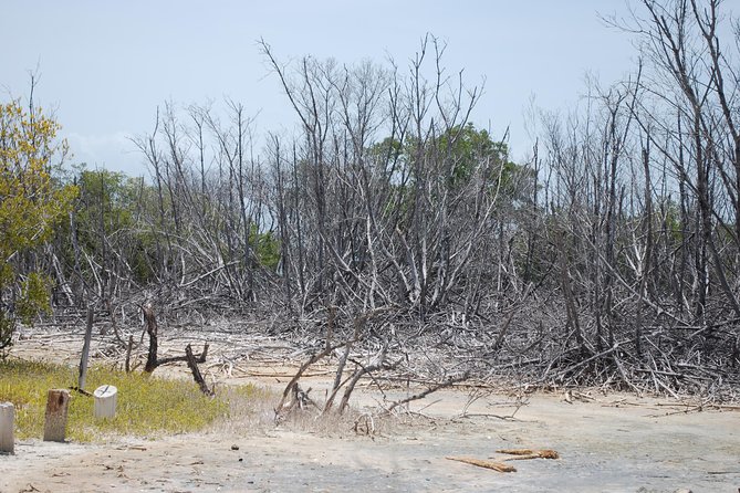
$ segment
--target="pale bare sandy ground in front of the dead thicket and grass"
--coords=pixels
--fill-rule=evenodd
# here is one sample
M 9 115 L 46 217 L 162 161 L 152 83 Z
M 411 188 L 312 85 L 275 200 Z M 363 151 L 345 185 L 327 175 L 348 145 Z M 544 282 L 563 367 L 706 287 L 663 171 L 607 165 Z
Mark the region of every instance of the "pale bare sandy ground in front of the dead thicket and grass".
M 275 376 L 253 376 L 269 373 Z M 258 368 L 229 381 L 277 388 L 284 373 Z M 329 379 L 311 385 L 320 396 Z M 358 408 L 379 399 L 357 397 Z M 530 395 L 517 408 L 512 397 L 491 394 L 468 408 L 477 416 L 460 417 L 469 394 L 444 390 L 372 436 L 351 423 L 275 427 L 265 417 L 257 427 L 157 440 L 20 441 L 14 455 L 0 455 L 0 492 L 740 491 L 734 408 L 699 412 L 632 395 L 575 397 Z M 500 459 L 496 451 L 508 448 L 553 449 L 561 458 L 512 461 L 512 473 L 446 459 Z

